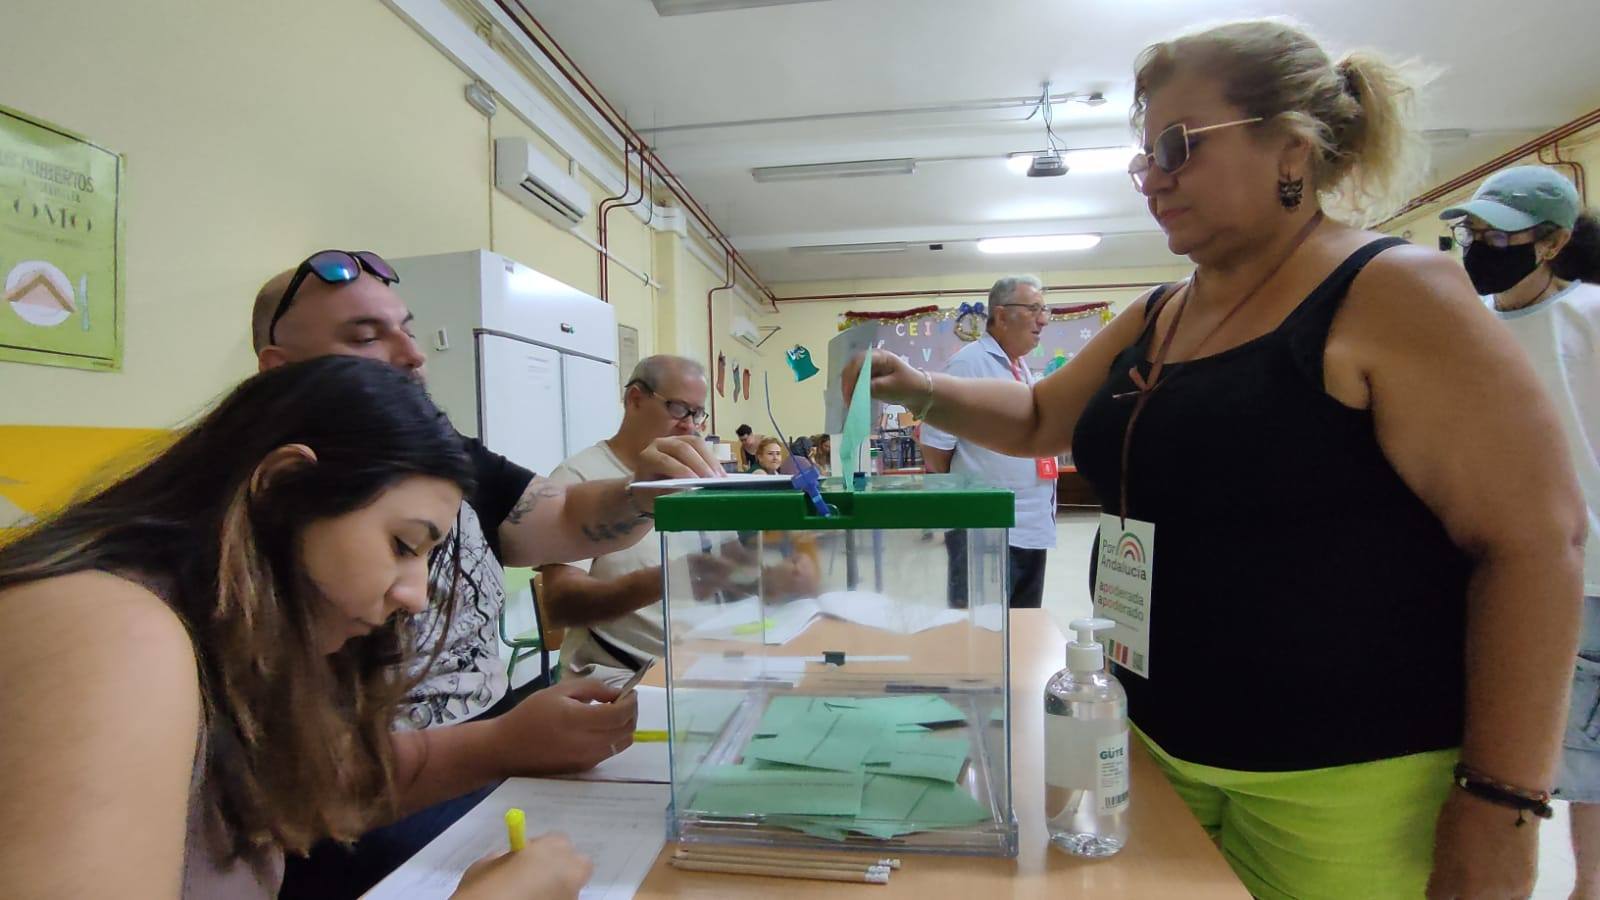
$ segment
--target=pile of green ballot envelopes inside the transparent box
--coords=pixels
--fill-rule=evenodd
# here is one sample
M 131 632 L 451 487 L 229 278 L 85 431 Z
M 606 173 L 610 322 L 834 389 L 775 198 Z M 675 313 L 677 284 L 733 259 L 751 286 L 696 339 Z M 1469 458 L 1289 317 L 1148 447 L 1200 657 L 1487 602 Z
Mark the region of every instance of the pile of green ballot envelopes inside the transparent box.
M 965 724 L 936 695 L 776 697 L 742 762 L 702 772 L 688 807 L 832 841 L 974 825 L 990 812 L 958 783 L 971 743 L 939 732 Z

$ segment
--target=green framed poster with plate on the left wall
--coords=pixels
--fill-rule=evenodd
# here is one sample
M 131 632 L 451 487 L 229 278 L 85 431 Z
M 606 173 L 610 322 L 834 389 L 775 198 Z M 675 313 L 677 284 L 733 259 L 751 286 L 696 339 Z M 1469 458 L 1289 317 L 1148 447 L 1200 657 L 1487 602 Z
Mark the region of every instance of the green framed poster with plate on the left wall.
M 123 157 L 0 106 L 0 360 L 117 372 Z

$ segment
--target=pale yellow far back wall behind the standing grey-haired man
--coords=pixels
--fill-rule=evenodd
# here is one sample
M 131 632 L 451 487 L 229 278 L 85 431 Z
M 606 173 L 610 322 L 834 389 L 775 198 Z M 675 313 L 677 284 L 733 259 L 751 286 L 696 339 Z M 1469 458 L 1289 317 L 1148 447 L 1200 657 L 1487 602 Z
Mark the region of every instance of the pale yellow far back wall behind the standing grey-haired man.
M 1027 272 L 1019 272 L 1027 274 Z M 1032 272 L 1046 285 L 1094 285 L 1094 283 L 1133 283 L 1133 282 L 1171 282 L 1189 274 L 1189 266 L 1173 264 L 1154 269 L 1085 269 L 1075 272 Z M 822 375 L 795 381 L 794 373 L 784 360 L 784 351 L 802 344 L 811 351 L 811 362 L 827 373 L 827 341 L 838 333 L 838 317 L 846 311 L 885 312 L 896 309 L 912 309 L 917 306 L 952 307 L 962 303 L 984 299 L 973 296 L 898 296 L 885 299 L 824 299 L 803 303 L 782 303 L 784 296 L 811 296 L 837 293 L 870 293 L 901 290 L 966 290 L 987 288 L 995 282 L 995 274 L 939 275 L 930 279 L 861 279 L 848 282 L 795 282 L 784 283 L 778 290 L 779 312 L 768 322 L 781 325 L 782 330 L 762 348 L 766 364 L 773 373 L 773 410 L 778 413 L 778 424 L 790 439 L 795 434 L 816 434 L 822 431 Z M 1144 293 L 1138 288 L 1122 290 L 1082 290 L 1051 291 L 1048 303 L 1096 303 L 1110 301 L 1114 309 L 1122 309 Z M 765 362 L 765 360 L 763 360 Z M 741 410 L 742 412 L 742 410 Z M 765 423 L 765 413 L 763 413 Z M 762 431 L 754 421 L 755 431 Z

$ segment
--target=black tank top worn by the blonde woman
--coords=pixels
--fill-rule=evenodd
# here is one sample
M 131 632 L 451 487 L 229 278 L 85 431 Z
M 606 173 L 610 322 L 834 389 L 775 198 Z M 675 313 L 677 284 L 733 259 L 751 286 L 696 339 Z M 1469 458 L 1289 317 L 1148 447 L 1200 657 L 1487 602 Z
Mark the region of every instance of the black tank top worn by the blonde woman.
M 1461 743 L 1469 559 L 1371 413 L 1323 388 L 1339 303 L 1397 243 L 1357 250 L 1277 330 L 1168 362 L 1134 428 L 1128 516 L 1155 524 L 1150 677 L 1117 676 L 1133 722 L 1179 759 L 1286 772 Z M 1130 367 L 1149 375 L 1158 298 L 1074 432 L 1112 514 L 1134 402 L 1114 396 L 1134 391 Z

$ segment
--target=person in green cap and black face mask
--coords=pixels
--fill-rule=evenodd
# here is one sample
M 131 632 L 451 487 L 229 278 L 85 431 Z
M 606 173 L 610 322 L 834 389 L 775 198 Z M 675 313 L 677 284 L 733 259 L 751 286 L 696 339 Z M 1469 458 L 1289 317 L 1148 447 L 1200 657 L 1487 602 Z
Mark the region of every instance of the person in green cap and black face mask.
M 1589 504 L 1584 623 L 1555 796 L 1571 806 L 1573 897 L 1600 900 L 1600 221 L 1562 173 L 1496 173 L 1456 221 L 1472 285 L 1526 351 L 1555 404 Z

